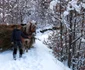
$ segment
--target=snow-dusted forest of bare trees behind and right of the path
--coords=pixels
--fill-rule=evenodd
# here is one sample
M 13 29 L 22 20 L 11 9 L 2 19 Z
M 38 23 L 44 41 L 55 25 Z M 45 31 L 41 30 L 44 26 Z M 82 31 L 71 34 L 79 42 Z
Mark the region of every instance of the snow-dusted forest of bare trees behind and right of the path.
M 85 69 L 85 0 L 0 0 L 0 24 L 51 25 L 44 43 L 72 70 Z M 0 29 L 1 30 L 1 29 Z

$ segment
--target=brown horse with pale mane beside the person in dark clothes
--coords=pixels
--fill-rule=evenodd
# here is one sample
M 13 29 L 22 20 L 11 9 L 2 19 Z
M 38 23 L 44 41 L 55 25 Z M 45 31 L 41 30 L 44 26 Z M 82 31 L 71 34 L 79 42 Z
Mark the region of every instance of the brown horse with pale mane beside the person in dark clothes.
M 29 39 L 24 39 L 23 42 L 23 51 L 28 52 L 28 49 L 32 47 L 34 36 L 33 33 L 36 32 L 36 21 L 32 20 L 31 22 L 27 23 L 24 28 L 24 34 L 28 35 Z

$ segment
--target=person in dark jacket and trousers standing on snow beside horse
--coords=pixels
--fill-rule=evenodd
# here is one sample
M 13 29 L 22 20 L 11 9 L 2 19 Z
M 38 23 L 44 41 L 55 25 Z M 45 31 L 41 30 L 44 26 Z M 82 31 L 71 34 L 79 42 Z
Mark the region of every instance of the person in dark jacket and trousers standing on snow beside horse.
M 22 40 L 23 38 L 29 38 L 29 36 L 24 35 L 24 33 L 20 30 L 21 26 L 15 25 L 12 31 L 11 36 L 11 44 L 13 44 L 13 58 L 16 60 L 17 48 L 19 48 L 19 57 L 22 57 Z

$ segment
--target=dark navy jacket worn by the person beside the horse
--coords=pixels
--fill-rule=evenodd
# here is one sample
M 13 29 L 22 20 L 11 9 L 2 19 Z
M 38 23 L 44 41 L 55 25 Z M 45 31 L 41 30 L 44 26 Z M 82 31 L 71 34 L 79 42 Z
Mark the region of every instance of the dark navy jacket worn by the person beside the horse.
M 24 35 L 23 32 L 19 29 L 14 29 L 12 32 L 12 37 L 11 37 L 11 41 L 15 42 L 15 41 L 22 41 L 21 37 L 23 38 L 28 38 L 28 36 Z

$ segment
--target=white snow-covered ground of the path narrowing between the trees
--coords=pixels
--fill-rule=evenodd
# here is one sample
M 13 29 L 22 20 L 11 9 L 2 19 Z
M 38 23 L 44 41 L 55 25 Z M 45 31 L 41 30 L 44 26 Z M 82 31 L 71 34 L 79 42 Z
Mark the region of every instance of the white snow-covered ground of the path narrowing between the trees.
M 0 70 L 70 70 L 52 55 L 52 51 L 42 43 L 46 34 L 38 34 L 34 48 L 25 53 L 22 58 L 13 60 L 12 51 L 0 53 Z

